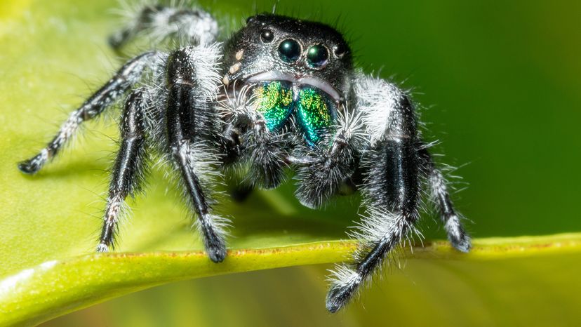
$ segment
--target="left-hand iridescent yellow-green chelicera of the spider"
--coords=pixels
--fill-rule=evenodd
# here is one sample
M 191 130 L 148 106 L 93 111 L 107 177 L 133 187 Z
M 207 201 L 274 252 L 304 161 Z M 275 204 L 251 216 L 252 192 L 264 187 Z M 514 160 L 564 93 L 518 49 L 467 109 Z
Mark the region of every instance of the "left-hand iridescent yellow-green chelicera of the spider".
M 265 118 L 269 131 L 284 125 L 293 112 L 293 88 L 281 81 L 266 82 L 254 89 L 257 99 L 256 110 Z

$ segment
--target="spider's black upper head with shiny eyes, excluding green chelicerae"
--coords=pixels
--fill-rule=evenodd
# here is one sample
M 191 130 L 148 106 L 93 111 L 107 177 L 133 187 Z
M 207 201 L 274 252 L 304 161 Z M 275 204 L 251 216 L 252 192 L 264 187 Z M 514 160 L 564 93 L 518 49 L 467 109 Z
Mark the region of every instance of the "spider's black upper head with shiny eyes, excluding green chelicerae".
M 225 83 L 289 81 L 319 88 L 340 101 L 349 90 L 353 62 L 336 29 L 281 15 L 246 20 L 226 45 Z

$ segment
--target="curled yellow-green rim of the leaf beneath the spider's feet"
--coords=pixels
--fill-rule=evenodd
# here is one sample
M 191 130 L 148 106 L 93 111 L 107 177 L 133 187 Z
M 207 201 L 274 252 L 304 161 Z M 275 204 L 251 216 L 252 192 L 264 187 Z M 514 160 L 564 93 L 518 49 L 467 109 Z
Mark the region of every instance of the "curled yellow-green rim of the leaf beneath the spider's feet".
M 144 288 L 202 276 L 258 269 L 340 262 L 354 250 L 353 241 L 326 241 L 231 250 L 217 265 L 202 251 L 108 253 L 52 260 L 0 281 L 0 323 L 39 323 Z M 447 242 L 425 243 L 406 257 L 425 260 L 497 260 L 530 255 L 579 253 L 581 234 L 482 239 L 468 255 Z

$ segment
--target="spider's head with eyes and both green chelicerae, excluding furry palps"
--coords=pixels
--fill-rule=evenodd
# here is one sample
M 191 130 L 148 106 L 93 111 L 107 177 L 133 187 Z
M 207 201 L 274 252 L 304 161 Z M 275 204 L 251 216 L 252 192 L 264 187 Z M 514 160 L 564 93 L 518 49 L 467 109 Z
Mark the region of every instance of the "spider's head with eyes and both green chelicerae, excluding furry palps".
M 319 22 L 279 15 L 246 22 L 225 47 L 223 83 L 251 87 L 251 107 L 269 131 L 298 127 L 309 146 L 319 145 L 347 101 L 353 71 L 349 45 L 340 32 Z

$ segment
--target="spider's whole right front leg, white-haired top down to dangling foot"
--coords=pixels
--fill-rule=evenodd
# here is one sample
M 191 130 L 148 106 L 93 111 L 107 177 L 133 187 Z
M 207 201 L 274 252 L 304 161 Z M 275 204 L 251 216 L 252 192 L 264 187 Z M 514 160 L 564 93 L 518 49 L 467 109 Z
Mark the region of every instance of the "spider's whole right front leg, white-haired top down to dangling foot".
M 361 186 L 367 210 L 354 233 L 361 240 L 355 263 L 338 267 L 331 278 L 330 312 L 352 298 L 418 220 L 420 159 L 413 107 L 399 89 L 380 79 L 360 79 L 355 93 L 370 136 L 361 163 L 367 171 Z

